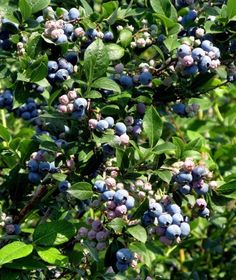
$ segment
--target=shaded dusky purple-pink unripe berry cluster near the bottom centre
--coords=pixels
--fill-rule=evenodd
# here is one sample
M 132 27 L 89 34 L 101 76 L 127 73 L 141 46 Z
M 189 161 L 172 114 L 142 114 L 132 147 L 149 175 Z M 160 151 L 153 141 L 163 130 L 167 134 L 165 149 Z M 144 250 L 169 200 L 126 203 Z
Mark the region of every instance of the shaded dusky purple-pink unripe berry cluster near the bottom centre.
M 81 227 L 77 239 L 87 239 L 89 244 L 98 251 L 103 251 L 109 244 L 110 231 L 104 227 L 100 220 L 88 219 L 90 228 Z

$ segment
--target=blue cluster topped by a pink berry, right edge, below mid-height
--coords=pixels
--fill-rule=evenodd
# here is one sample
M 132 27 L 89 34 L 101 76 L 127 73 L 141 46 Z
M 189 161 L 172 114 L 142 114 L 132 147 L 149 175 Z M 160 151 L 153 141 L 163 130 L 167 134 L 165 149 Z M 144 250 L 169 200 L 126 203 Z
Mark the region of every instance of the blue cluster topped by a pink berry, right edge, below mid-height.
M 204 181 L 209 171 L 204 166 L 195 166 L 192 160 L 187 159 L 179 173 L 173 176 L 178 190 L 187 195 L 194 190 L 198 195 L 206 195 L 209 185 Z

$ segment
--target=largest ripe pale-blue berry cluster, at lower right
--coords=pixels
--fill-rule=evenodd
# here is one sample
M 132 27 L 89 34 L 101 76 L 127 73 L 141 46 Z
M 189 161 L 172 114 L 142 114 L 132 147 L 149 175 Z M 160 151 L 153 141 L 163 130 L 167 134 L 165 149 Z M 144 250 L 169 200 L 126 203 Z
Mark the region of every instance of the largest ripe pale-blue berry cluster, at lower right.
M 180 242 L 190 234 L 190 226 L 187 217 L 184 217 L 177 204 L 163 201 L 149 201 L 148 211 L 142 216 L 141 222 L 147 227 L 158 223 L 154 233 L 159 236 L 159 240 L 166 245 L 172 244 L 174 240 Z

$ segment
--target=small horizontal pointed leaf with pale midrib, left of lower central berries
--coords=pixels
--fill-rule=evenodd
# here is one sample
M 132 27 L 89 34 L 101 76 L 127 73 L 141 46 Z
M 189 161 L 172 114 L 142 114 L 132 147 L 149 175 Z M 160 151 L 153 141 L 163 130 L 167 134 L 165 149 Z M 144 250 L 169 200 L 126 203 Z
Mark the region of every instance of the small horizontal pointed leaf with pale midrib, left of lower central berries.
M 89 199 L 93 196 L 92 186 L 86 182 L 79 182 L 72 185 L 67 192 L 80 200 Z

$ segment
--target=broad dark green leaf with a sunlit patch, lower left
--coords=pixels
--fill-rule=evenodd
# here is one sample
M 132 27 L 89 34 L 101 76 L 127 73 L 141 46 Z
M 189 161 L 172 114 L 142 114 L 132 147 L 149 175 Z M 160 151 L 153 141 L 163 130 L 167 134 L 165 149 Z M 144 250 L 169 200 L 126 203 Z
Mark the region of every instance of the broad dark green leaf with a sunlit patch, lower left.
M 33 234 L 37 245 L 51 246 L 67 242 L 75 235 L 75 227 L 68 221 L 56 221 L 39 224 Z

